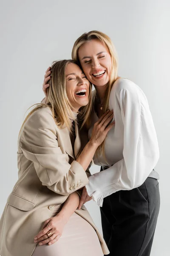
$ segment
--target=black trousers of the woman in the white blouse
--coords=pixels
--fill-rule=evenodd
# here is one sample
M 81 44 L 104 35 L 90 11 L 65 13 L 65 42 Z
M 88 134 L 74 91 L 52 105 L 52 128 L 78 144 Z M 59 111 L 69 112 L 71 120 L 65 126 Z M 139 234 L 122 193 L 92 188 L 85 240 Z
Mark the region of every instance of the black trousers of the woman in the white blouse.
M 103 236 L 109 256 L 149 256 L 159 214 L 158 180 L 104 198 L 100 207 Z

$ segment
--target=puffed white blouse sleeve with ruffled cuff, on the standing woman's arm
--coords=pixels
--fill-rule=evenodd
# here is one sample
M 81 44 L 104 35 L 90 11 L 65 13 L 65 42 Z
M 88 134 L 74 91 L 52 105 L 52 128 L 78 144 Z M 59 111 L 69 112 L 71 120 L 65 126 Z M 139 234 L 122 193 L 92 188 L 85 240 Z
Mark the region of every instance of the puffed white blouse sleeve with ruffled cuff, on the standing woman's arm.
M 114 101 L 124 125 L 123 159 L 89 177 L 88 195 L 93 196 L 99 206 L 103 198 L 114 192 L 141 186 L 159 159 L 156 131 L 142 90 L 129 81 L 117 87 Z

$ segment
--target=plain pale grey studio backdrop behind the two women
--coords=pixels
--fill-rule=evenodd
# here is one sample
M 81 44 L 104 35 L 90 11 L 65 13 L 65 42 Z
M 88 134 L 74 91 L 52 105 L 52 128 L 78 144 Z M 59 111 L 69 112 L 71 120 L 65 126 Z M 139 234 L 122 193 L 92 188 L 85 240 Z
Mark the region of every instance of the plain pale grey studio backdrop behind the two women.
M 71 58 L 74 41 L 97 29 L 108 34 L 119 55 L 119 76 L 144 90 L 156 127 L 161 209 L 152 256 L 169 256 L 170 229 L 170 1 L 0 1 L 0 215 L 17 180 L 17 136 L 27 108 L 43 97 L 52 61 Z M 93 166 L 92 172 L 98 171 Z M 101 230 L 99 208 L 87 204 Z

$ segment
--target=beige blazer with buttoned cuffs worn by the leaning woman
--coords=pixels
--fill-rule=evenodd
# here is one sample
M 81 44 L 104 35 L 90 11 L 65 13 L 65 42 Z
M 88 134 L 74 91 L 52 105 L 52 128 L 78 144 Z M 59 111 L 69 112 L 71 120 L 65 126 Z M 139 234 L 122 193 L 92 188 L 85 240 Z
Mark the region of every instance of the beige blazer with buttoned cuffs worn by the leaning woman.
M 68 129 L 57 127 L 49 108 L 39 109 L 26 121 L 18 140 L 19 178 L 0 219 L 1 256 L 31 256 L 34 236 L 51 217 L 53 206 L 88 183 L 86 172 L 75 160 L 81 150 L 77 125 L 75 131 L 73 152 Z M 87 209 L 83 206 L 75 212 L 94 227 L 103 253 L 108 254 Z

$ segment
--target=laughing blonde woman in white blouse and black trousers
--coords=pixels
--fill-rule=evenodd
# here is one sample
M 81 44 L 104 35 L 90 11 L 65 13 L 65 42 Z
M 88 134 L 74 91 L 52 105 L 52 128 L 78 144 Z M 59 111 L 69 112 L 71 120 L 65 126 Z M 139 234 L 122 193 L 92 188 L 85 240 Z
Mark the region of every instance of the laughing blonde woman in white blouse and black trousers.
M 154 167 L 159 147 L 149 105 L 143 91 L 117 75 L 116 50 L 102 32 L 81 35 L 72 58 L 94 84 L 94 108 L 87 120 L 88 136 L 107 109 L 115 126 L 99 146 L 94 163 L 101 172 L 91 175 L 79 208 L 90 200 L 100 206 L 104 239 L 111 256 L 149 256 L 159 214 L 159 175 Z M 48 87 L 50 68 L 43 90 Z

